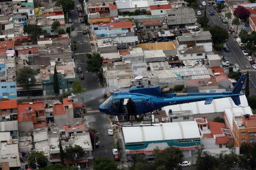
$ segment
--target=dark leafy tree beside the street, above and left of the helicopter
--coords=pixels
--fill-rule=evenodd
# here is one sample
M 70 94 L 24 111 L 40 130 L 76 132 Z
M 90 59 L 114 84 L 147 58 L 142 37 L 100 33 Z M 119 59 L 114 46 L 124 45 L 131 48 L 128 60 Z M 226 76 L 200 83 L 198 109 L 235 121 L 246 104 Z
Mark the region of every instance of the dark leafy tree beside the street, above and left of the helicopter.
M 101 66 L 103 62 L 103 58 L 101 57 L 101 55 L 96 53 L 87 53 L 86 57 L 88 58 L 88 60 L 86 61 L 86 69 L 92 73 L 97 73 L 98 75 L 101 71 Z

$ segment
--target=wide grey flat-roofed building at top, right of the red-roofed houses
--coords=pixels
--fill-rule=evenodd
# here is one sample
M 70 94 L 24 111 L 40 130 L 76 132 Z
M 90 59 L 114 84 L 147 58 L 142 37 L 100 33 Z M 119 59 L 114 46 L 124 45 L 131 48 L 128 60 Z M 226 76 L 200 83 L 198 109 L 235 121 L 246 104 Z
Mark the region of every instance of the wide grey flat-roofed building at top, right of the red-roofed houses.
M 167 10 L 167 24 L 168 28 L 185 27 L 195 25 L 196 15 L 195 11 L 189 7 L 174 7 Z

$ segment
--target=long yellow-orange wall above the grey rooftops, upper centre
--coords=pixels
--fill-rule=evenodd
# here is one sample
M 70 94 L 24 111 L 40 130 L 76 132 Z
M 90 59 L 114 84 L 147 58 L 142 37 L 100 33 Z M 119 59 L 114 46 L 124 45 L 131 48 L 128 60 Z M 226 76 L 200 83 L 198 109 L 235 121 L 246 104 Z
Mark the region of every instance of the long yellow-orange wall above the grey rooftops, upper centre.
M 170 50 L 176 48 L 174 41 L 143 43 L 139 44 L 139 47 L 148 50 Z

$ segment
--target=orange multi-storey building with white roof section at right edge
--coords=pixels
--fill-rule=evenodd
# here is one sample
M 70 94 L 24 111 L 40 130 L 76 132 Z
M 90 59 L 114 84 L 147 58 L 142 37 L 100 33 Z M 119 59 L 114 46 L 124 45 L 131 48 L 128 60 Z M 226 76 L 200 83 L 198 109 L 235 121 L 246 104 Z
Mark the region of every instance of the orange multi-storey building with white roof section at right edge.
M 250 107 L 225 109 L 225 125 L 232 131 L 234 145 L 240 147 L 244 142 L 255 142 L 256 116 Z

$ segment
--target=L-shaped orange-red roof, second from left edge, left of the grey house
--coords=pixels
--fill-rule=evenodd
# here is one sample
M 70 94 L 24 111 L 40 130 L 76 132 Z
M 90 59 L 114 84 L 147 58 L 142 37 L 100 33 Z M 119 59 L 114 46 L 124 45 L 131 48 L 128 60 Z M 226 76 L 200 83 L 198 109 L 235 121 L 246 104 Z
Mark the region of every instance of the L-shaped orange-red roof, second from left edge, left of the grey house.
M 32 121 L 31 112 L 42 111 L 44 108 L 44 101 L 34 101 L 32 104 L 29 102 L 18 104 L 18 122 Z M 31 111 L 28 108 L 31 107 Z

